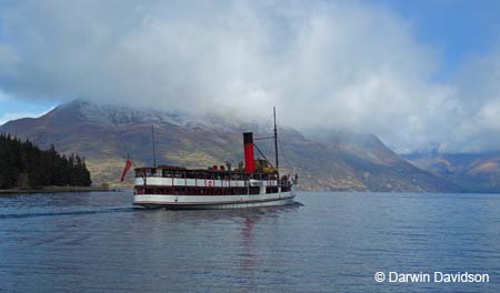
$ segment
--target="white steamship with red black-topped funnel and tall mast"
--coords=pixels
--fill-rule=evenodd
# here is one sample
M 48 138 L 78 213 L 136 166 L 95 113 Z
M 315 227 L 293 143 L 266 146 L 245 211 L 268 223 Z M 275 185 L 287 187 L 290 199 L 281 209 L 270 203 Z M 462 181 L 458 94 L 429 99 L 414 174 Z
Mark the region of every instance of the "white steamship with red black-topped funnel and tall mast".
M 243 133 L 244 168 L 136 168 L 133 204 L 167 209 L 236 209 L 283 205 L 293 202 L 297 174 L 280 174 L 274 111 L 274 165 L 254 159 L 253 133 Z M 270 138 L 270 139 L 272 139 Z M 254 148 L 256 146 L 256 148 Z

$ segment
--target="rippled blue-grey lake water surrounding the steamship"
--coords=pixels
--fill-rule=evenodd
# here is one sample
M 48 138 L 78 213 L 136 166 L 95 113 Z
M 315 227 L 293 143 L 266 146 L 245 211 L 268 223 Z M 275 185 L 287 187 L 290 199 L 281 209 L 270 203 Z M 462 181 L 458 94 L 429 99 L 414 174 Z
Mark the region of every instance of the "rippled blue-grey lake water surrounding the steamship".
M 500 195 L 300 193 L 303 205 L 230 211 L 131 200 L 0 196 L 0 291 L 500 292 Z M 397 283 L 390 272 L 489 283 Z

